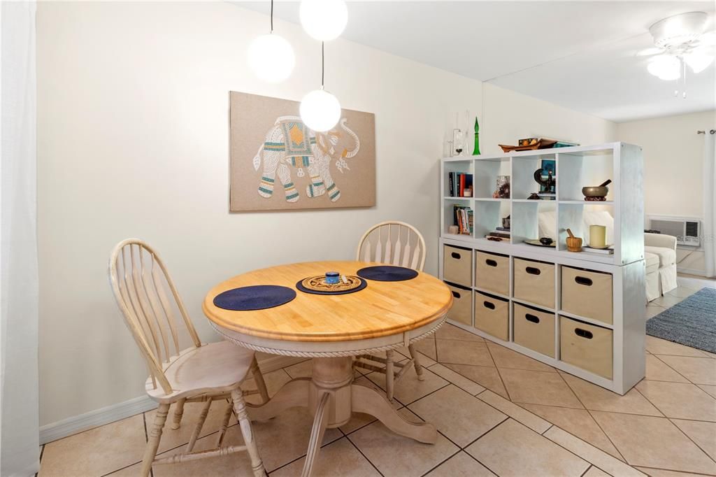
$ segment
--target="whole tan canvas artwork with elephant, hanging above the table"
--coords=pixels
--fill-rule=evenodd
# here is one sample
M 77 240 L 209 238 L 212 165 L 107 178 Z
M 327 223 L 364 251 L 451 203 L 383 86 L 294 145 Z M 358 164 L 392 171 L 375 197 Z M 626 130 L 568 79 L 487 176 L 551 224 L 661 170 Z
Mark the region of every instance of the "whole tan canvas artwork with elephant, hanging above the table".
M 273 211 L 375 205 L 375 116 L 342 110 L 319 133 L 299 102 L 230 93 L 230 210 Z

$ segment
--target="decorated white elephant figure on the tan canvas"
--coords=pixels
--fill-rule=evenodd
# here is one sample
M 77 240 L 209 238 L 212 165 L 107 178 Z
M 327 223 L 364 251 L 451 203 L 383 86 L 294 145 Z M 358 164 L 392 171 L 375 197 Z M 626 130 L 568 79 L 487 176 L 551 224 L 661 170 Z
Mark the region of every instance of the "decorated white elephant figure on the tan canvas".
M 297 116 L 281 116 L 276 119 L 266 138 L 253 157 L 253 168 L 263 164 L 258 195 L 271 198 L 274 195 L 276 177 L 284 188 L 286 201 L 299 201 L 301 193 L 296 188 L 291 170 L 302 178 L 309 173 L 306 197 L 316 198 L 328 194 L 332 202 L 341 198 L 341 191 L 331 175 L 334 163 L 340 173 L 350 170 L 347 159 L 354 158 L 360 150 L 360 139 L 347 126 L 347 119 L 326 133 L 309 129 Z

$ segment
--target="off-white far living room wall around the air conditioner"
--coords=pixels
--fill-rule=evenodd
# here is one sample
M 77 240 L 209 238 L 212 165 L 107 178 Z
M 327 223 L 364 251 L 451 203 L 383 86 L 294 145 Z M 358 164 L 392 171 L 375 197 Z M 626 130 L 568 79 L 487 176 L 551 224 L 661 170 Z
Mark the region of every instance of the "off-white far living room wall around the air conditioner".
M 677 99 L 674 99 L 677 101 Z M 644 201 L 647 215 L 703 216 L 704 136 L 716 127 L 716 111 L 622 122 L 618 140 L 644 148 Z M 679 271 L 700 274 L 700 251 L 677 252 Z

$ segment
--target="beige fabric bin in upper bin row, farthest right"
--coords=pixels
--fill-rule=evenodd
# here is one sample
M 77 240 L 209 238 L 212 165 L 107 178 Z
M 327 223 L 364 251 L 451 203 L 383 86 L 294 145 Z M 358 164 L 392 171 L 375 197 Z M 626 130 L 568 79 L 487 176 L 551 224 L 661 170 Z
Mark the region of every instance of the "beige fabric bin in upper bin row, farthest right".
M 562 267 L 561 309 L 612 323 L 611 274 Z

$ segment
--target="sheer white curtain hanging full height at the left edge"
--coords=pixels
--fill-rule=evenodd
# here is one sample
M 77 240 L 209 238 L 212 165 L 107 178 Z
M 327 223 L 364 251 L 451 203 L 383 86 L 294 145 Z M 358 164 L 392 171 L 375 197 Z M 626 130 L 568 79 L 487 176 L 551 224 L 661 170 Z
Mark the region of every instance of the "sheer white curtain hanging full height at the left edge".
M 34 2 L 0 3 L 0 475 L 39 469 Z

